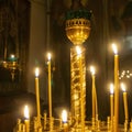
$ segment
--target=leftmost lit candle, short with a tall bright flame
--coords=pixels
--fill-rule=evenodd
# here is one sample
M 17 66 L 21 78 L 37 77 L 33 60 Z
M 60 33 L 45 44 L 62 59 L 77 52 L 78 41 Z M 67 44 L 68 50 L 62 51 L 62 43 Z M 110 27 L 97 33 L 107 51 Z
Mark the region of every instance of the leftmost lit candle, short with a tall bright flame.
M 24 123 L 25 123 L 25 132 L 30 132 L 30 113 L 29 113 L 29 107 L 24 107 Z

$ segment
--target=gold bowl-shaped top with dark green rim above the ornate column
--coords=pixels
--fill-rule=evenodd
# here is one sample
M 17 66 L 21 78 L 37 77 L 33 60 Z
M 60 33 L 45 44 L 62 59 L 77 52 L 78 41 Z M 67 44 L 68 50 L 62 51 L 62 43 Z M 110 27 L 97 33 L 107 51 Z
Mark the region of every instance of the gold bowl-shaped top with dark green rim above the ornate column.
M 91 11 L 86 10 L 80 0 L 73 0 L 70 10 L 66 12 L 66 35 L 74 45 L 82 44 L 90 33 Z

